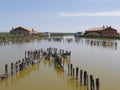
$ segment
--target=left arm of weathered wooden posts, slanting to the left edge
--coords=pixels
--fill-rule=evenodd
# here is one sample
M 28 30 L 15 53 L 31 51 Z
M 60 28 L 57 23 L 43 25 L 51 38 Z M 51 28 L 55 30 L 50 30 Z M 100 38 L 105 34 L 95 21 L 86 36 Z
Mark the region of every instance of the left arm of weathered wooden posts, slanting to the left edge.
M 0 75 L 0 80 L 9 77 L 10 75 L 17 73 L 21 70 L 24 70 L 28 68 L 31 65 L 34 65 L 35 63 L 39 62 L 39 58 L 41 57 L 40 51 L 25 51 L 25 58 L 22 60 L 18 60 L 15 63 L 11 63 L 10 70 L 11 72 L 8 72 L 8 64 L 5 64 L 5 73 Z

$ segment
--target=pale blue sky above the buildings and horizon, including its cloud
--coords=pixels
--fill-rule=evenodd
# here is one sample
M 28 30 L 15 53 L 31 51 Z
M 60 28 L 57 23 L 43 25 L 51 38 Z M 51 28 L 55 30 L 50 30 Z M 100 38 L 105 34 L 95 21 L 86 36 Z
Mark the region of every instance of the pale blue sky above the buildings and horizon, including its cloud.
M 0 32 L 18 26 L 38 32 L 84 32 L 112 26 L 120 32 L 120 0 L 0 0 Z

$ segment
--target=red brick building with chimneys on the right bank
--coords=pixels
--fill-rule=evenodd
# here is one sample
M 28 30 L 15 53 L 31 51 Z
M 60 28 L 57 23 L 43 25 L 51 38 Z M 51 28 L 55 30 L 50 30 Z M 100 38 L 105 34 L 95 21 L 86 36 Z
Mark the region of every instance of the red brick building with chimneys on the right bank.
M 117 30 L 112 28 L 111 26 L 103 26 L 100 28 L 90 28 L 85 31 L 85 35 L 90 34 L 90 33 L 96 33 L 99 34 L 102 37 L 107 37 L 107 36 L 116 36 L 117 35 Z

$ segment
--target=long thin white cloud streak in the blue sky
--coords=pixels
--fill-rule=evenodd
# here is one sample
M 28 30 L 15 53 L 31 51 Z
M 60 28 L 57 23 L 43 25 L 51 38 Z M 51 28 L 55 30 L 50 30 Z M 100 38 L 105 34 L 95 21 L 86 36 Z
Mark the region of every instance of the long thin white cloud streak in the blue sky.
M 79 17 L 79 16 L 120 16 L 120 11 L 94 12 L 94 13 L 58 13 L 62 17 Z

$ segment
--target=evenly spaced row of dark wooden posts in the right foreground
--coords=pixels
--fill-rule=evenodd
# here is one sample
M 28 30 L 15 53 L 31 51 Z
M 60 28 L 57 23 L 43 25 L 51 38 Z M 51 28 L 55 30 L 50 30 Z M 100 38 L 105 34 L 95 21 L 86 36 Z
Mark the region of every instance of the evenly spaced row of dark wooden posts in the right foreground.
M 72 76 L 73 80 L 79 79 L 80 85 L 87 86 L 87 90 L 100 90 L 99 78 L 96 78 L 95 81 L 93 75 L 88 75 L 87 71 L 83 71 L 82 69 L 79 70 L 79 67 L 74 68 L 73 64 L 68 64 L 68 76 Z

